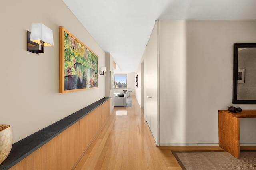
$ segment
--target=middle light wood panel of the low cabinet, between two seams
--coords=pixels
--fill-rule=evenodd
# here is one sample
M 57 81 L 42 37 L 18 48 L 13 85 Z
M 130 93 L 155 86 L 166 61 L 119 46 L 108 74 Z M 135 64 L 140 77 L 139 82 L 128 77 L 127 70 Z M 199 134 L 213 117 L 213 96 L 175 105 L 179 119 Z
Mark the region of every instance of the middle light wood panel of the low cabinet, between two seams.
M 80 119 L 80 155 L 90 144 L 101 127 L 102 105 Z

